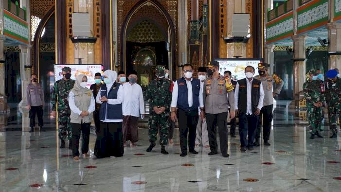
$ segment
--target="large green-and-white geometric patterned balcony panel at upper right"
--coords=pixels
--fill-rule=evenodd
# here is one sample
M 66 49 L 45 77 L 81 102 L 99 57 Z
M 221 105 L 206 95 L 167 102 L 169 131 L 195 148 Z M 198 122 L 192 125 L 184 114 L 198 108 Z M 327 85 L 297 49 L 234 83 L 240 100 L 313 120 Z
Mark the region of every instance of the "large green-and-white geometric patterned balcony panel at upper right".
M 297 9 L 297 33 L 320 27 L 328 22 L 328 0 L 312 0 Z

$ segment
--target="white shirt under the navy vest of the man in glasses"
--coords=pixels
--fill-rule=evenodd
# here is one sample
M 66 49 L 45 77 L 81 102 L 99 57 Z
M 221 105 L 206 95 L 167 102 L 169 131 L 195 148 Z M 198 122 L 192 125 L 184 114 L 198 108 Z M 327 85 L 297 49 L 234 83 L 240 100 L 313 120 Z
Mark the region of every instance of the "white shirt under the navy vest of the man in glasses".
M 186 78 L 185 78 L 186 79 Z M 191 107 L 193 105 L 193 92 L 192 92 L 192 80 L 193 78 L 191 78 L 191 81 L 188 81 L 186 79 L 186 85 L 187 85 L 187 95 L 188 95 L 188 106 Z M 200 107 L 204 107 L 204 100 L 202 97 L 202 88 L 203 88 L 203 84 L 201 85 L 200 83 L 200 90 L 199 90 L 199 105 Z M 175 82 L 174 86 L 173 86 L 173 92 L 172 92 L 172 103 L 171 103 L 171 107 L 177 107 L 178 105 L 178 93 L 179 93 L 179 87 L 178 87 L 178 81 Z

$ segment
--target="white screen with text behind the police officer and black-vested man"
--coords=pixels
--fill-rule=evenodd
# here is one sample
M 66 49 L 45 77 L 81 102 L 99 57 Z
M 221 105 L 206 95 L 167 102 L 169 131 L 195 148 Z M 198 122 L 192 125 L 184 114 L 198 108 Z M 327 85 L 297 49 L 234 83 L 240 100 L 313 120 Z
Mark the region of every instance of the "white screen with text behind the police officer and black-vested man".
M 258 63 L 261 59 L 216 59 L 219 62 L 219 73 L 224 75 L 226 70 L 231 71 L 232 79 L 237 81 L 245 78 L 245 68 L 249 65 L 254 67 L 254 76 L 258 75 Z

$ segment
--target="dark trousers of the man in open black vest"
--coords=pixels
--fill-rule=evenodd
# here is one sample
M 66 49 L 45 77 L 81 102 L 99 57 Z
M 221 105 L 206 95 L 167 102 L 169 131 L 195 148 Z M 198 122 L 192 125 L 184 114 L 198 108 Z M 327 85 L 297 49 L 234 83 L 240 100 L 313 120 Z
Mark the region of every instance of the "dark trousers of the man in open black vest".
M 240 113 L 238 117 L 240 147 L 253 147 L 254 131 L 257 127 L 258 115 L 246 115 Z M 248 139 L 246 139 L 247 136 Z

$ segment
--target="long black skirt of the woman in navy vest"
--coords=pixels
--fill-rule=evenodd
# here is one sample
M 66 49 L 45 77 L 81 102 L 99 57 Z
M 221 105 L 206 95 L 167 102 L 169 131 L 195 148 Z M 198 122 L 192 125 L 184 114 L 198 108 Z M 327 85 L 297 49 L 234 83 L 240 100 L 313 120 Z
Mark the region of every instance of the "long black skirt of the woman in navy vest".
M 122 122 L 101 122 L 95 143 L 97 158 L 122 157 L 124 154 Z

